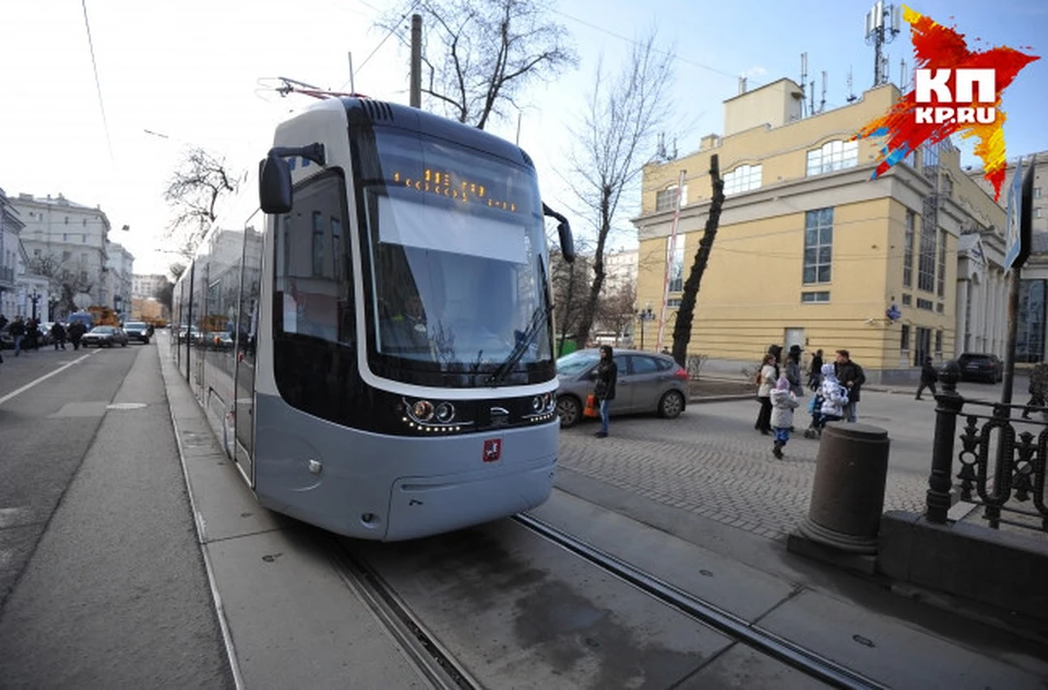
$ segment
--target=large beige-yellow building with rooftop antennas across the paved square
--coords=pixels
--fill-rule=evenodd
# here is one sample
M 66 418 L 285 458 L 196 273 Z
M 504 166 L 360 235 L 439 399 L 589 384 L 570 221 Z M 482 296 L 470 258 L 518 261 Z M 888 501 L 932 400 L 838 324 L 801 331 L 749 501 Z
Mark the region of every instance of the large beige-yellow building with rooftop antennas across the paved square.
M 738 372 L 770 344 L 800 344 L 808 355 L 849 349 L 871 381 L 909 379 L 925 356 L 955 356 L 958 333 L 1003 355 L 1003 210 L 961 169 L 949 142 L 871 179 L 883 142 L 853 139 L 898 99 L 885 84 L 805 117 L 800 87 L 778 80 L 725 102 L 723 136 L 644 169 L 638 302 L 658 313 L 657 266 L 666 265 L 678 176 L 684 171 L 684 201 L 671 260 L 683 273 L 708 214 L 710 158 L 718 156 L 726 201 L 689 345 L 708 355 L 707 370 Z M 679 288 L 670 292 L 669 304 L 679 298 Z

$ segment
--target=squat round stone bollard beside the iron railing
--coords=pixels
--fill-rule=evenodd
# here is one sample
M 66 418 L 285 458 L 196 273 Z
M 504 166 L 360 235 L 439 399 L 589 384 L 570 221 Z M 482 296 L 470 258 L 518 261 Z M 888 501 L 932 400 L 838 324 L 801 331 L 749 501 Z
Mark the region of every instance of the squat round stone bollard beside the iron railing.
M 805 537 L 851 554 L 877 552 L 890 443 L 880 427 L 826 425 L 808 518 L 798 528 Z

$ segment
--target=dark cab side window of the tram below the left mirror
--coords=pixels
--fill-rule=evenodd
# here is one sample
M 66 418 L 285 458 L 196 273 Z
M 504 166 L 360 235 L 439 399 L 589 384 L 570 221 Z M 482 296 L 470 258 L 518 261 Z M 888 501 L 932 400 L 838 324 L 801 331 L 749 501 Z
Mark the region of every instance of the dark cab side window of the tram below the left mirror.
M 276 242 L 274 323 L 297 334 L 352 345 L 353 276 L 345 185 L 329 174 L 295 191 L 295 209 L 281 218 Z

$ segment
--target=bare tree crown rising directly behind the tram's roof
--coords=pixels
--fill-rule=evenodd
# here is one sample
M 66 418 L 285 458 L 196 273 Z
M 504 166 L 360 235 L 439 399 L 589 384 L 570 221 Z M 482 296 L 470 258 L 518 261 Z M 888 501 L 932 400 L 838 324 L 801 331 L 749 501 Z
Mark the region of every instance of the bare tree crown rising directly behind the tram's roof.
M 528 82 L 576 63 L 549 9 L 547 0 L 405 0 L 378 25 L 398 32 L 408 14 L 421 14 L 422 93 L 434 109 L 484 129 Z

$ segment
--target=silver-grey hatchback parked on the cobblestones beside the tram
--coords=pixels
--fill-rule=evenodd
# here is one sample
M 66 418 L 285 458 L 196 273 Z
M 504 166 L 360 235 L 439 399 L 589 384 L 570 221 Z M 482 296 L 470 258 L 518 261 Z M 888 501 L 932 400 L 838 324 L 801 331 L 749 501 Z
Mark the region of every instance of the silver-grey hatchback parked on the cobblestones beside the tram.
M 616 349 L 619 378 L 615 386 L 612 415 L 656 413 L 672 419 L 688 404 L 688 372 L 672 357 L 636 349 Z M 557 360 L 557 413 L 560 426 L 582 419 L 586 395 L 593 393 L 599 349 L 580 349 Z

